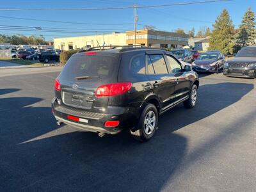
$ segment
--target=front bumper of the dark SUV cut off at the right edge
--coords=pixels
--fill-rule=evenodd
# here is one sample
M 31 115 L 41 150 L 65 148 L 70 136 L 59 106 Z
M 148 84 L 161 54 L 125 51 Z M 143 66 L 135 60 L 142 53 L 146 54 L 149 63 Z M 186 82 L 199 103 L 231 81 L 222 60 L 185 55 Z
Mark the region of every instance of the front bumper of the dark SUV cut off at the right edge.
M 230 77 L 255 78 L 256 69 L 255 67 L 223 68 L 223 75 Z

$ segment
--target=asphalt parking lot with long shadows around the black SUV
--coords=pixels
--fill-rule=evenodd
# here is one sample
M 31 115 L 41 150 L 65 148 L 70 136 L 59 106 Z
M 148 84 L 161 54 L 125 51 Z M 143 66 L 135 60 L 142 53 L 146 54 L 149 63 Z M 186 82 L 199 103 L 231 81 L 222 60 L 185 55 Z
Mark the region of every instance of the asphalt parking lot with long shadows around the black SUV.
M 196 108 L 139 143 L 58 127 L 59 68 L 20 71 L 0 71 L 0 191 L 255 191 L 256 80 L 201 74 Z

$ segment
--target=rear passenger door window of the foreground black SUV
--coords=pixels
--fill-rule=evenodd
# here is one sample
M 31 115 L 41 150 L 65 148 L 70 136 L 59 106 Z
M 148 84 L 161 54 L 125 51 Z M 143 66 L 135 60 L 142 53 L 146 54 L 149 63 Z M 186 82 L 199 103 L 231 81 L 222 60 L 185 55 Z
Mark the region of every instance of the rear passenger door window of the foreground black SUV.
M 152 54 L 149 57 L 153 65 L 155 74 L 168 74 L 163 54 Z

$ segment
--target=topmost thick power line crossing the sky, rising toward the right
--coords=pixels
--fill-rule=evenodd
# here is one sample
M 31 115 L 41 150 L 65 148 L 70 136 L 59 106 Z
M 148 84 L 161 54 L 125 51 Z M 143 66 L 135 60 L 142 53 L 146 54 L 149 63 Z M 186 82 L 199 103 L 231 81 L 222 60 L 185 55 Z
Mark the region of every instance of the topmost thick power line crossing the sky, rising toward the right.
M 137 8 L 161 8 L 165 6 L 182 6 L 189 4 L 204 4 L 204 3 L 216 3 L 223 1 L 233 0 L 212 0 L 212 1 L 195 1 L 188 3 L 172 3 L 172 4 L 156 4 L 156 5 L 145 5 L 137 6 Z M 109 8 L 0 8 L 0 11 L 96 11 L 96 10 L 125 10 L 133 9 L 133 6 L 122 6 L 122 7 L 109 7 Z

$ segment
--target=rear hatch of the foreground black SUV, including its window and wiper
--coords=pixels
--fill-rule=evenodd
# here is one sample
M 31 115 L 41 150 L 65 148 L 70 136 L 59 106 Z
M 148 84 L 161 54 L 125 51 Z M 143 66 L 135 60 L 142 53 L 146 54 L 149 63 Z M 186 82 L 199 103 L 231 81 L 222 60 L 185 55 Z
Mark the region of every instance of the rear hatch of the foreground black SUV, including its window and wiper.
M 104 113 L 108 97 L 95 97 L 103 84 L 116 83 L 120 54 L 110 51 L 81 52 L 73 55 L 58 77 L 63 104 Z

